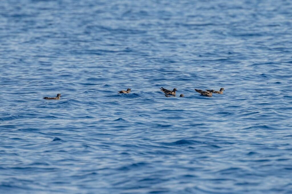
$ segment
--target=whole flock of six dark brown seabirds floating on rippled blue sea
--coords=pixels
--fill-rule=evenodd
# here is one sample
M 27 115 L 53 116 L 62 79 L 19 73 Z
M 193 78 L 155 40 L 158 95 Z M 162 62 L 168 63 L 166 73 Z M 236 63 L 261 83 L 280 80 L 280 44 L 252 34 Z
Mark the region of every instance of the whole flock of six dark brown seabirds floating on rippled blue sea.
M 175 96 L 175 92 L 178 91 L 176 88 L 173 88 L 173 90 L 167 90 L 165 88 L 160 88 L 160 90 L 162 92 L 164 92 L 165 96 L 166 97 L 174 97 Z M 198 89 L 195 89 L 196 92 L 199 92 L 201 95 L 203 96 L 208 96 L 208 97 L 211 97 L 213 95 L 213 93 L 216 93 L 216 94 L 223 94 L 223 91 L 224 88 L 220 88 L 219 91 L 215 91 L 215 90 L 198 90 Z M 127 90 L 121 90 L 121 91 L 118 91 L 118 94 L 128 94 L 131 92 L 131 89 L 128 88 Z M 60 97 L 61 94 L 57 94 L 57 97 L 43 97 L 43 99 L 46 99 L 46 100 L 60 100 Z M 185 97 L 185 95 L 181 94 L 180 97 Z

